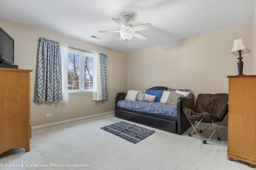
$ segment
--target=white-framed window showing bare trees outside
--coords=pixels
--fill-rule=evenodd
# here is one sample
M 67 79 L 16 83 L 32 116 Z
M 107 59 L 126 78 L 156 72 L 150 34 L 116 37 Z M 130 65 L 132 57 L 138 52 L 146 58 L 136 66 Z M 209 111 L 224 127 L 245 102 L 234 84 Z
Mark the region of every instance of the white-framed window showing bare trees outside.
M 92 92 L 93 55 L 68 50 L 68 92 Z

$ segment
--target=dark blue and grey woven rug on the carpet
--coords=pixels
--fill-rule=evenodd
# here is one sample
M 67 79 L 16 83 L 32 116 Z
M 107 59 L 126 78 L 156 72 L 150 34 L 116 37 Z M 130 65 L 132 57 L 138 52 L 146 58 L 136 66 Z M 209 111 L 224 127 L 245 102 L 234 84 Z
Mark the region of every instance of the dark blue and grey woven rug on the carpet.
M 104 126 L 100 129 L 103 129 L 132 143 L 138 143 L 155 132 L 145 127 L 140 127 L 124 121 Z

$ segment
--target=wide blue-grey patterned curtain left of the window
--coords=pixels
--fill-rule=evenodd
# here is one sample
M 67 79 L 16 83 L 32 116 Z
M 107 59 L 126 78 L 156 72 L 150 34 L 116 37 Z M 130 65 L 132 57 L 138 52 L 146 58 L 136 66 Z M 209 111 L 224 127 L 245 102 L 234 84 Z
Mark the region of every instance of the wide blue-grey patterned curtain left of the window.
M 40 39 L 34 102 L 62 101 L 60 44 Z

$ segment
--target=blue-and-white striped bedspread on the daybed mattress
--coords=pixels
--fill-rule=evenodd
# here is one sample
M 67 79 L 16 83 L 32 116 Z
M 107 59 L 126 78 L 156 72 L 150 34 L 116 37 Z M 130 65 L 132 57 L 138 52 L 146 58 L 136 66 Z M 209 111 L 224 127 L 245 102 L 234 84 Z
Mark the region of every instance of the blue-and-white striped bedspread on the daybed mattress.
M 119 100 L 117 106 L 124 107 L 126 109 L 131 109 L 135 111 L 142 111 L 147 113 L 156 113 L 161 115 L 168 115 L 177 117 L 177 106 L 170 105 L 160 102 L 143 102 L 140 100 L 130 101 L 130 100 Z

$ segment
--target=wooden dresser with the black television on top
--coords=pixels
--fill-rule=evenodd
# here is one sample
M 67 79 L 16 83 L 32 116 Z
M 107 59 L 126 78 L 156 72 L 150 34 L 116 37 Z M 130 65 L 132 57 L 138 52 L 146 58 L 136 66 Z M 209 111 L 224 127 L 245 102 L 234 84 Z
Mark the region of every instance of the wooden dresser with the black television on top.
M 30 72 L 0 68 L 0 154 L 13 148 L 30 151 Z

